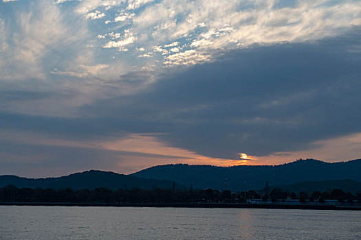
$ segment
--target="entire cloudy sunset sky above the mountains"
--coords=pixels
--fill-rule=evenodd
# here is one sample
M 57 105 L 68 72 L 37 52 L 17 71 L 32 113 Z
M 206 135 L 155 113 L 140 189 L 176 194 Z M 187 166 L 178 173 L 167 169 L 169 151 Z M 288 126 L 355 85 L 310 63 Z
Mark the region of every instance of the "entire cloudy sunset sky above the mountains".
M 0 0 L 0 174 L 361 158 L 359 0 Z

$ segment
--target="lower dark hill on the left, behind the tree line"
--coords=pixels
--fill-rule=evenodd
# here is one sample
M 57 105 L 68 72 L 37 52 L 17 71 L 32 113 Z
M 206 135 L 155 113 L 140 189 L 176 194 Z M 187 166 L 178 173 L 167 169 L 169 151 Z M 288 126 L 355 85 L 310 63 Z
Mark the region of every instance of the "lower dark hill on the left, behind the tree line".
M 172 189 L 173 181 L 144 179 L 135 176 L 113 173 L 111 171 L 84 171 L 59 178 L 20 178 L 18 176 L 0 176 L 0 187 L 13 184 L 18 188 L 28 187 L 31 189 L 96 189 L 105 187 L 107 189 Z M 184 189 L 175 183 L 176 189 Z

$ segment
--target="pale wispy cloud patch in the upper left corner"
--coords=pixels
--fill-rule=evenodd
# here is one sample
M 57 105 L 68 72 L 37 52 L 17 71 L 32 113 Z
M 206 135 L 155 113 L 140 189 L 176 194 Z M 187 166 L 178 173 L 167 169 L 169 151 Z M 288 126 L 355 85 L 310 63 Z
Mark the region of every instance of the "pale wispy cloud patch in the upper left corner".
M 57 61 L 60 56 L 69 53 L 69 61 L 86 48 L 79 43 L 87 37 L 87 30 L 72 28 L 82 25 L 76 19 L 70 25 L 58 5 L 50 1 L 24 3 L 14 15 L 4 18 L 3 24 L 0 23 L 6 43 L 6 48 L 0 50 L 1 80 L 45 79 L 49 65 L 61 67 L 65 62 Z

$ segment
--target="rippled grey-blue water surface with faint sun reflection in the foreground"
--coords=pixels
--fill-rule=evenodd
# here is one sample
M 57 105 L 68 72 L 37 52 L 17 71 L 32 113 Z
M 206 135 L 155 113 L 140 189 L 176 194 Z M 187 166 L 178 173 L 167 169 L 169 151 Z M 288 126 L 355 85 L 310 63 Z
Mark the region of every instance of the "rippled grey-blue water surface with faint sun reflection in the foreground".
M 0 239 L 361 239 L 361 213 L 0 206 Z

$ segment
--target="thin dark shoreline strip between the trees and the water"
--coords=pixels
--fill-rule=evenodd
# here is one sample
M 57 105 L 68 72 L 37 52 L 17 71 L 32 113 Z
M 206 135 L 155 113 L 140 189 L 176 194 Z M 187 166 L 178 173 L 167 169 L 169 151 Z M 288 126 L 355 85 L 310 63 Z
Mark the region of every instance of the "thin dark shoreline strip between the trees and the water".
M 153 208 L 264 208 L 361 211 L 361 206 L 311 205 L 311 204 L 228 204 L 228 203 L 159 203 L 159 204 L 102 204 L 71 202 L 0 202 L 0 206 L 111 206 L 111 207 L 153 207 Z

